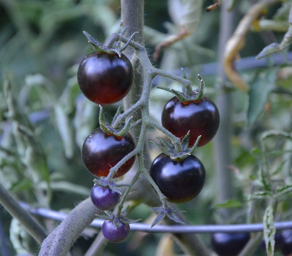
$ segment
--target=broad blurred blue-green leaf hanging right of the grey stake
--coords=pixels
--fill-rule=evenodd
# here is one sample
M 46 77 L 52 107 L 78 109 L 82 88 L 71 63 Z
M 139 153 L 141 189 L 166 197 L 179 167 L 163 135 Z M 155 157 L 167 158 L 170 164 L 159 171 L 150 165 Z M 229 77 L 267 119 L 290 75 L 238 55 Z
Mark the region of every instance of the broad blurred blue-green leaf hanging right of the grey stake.
M 248 127 L 253 125 L 258 116 L 262 113 L 269 93 L 276 87 L 278 69 L 267 69 L 260 72 L 251 83 L 249 91 L 249 105 L 247 111 Z

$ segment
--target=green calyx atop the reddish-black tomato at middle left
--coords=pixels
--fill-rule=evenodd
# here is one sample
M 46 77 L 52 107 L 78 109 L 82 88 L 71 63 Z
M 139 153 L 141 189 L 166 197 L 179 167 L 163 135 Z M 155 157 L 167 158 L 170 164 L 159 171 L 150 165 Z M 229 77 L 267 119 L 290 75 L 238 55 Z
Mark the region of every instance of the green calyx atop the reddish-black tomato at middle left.
M 99 105 L 100 111 L 99 111 L 99 125 L 100 128 L 105 133 L 114 134 L 119 137 L 124 137 L 128 134 L 128 132 L 137 126 L 142 119 L 139 119 L 135 122 L 133 122 L 133 116 L 128 118 L 128 120 L 120 119 L 119 115 L 122 113 L 122 105 L 120 105 L 117 109 L 116 114 L 114 115 L 114 118 L 112 120 L 112 123 L 108 123 L 105 119 L 103 107 Z

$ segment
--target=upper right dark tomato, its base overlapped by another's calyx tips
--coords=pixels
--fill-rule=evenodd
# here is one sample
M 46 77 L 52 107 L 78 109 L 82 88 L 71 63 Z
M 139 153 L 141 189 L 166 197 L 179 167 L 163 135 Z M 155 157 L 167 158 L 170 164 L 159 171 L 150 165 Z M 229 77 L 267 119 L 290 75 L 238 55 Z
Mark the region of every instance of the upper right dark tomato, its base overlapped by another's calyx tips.
M 219 127 L 219 111 L 215 103 L 206 96 L 191 102 L 181 102 L 171 98 L 162 111 L 161 123 L 178 138 L 183 138 L 190 131 L 191 147 L 198 136 L 202 135 L 198 147 L 213 139 Z

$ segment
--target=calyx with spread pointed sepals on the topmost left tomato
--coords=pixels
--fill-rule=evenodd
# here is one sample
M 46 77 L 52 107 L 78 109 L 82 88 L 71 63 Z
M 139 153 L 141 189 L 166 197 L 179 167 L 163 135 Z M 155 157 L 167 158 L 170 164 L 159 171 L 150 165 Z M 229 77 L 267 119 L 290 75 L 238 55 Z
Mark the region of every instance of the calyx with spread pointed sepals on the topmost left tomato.
M 124 35 L 128 27 L 125 27 L 123 31 L 119 33 L 119 35 Z M 121 52 L 126 49 L 130 41 L 132 40 L 133 36 L 138 33 L 135 32 L 131 35 L 128 42 L 121 47 L 119 42 L 119 37 L 117 37 L 116 34 L 113 34 L 112 37 L 109 38 L 109 40 L 106 42 L 106 44 L 101 44 L 98 42 L 95 38 L 93 38 L 91 35 L 89 35 L 86 31 L 83 31 L 83 34 L 87 37 L 88 42 L 91 44 L 93 49 L 97 52 L 101 53 L 108 53 L 108 54 L 118 54 L 121 57 Z

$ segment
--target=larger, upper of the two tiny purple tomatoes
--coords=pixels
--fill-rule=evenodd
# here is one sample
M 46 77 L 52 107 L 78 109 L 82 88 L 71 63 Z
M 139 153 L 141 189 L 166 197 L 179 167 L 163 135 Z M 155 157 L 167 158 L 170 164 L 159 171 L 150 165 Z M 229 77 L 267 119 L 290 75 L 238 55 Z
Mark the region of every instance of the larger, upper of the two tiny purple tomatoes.
M 90 197 L 93 204 L 102 211 L 114 208 L 120 200 L 120 194 L 116 191 L 97 185 L 91 188 Z

